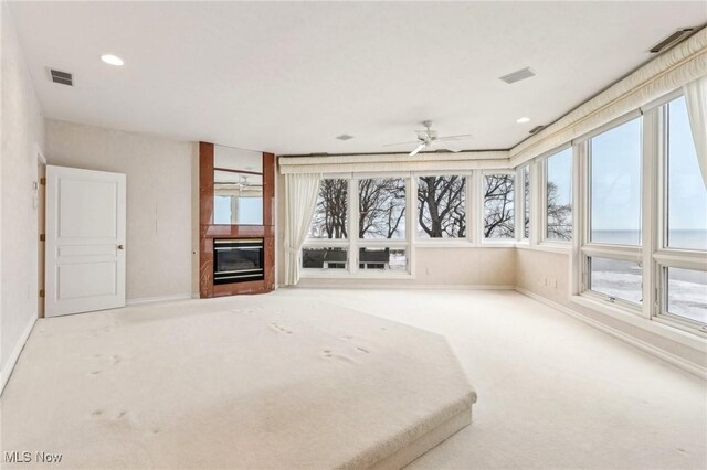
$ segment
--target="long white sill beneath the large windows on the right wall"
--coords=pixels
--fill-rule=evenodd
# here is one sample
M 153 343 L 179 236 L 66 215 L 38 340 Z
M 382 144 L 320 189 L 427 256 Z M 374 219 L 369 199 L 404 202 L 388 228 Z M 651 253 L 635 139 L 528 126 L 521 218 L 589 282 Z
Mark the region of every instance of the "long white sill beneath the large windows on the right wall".
M 705 351 L 707 349 L 706 337 L 697 330 L 688 332 L 662 322 L 652 321 L 645 317 L 641 317 L 637 312 L 631 312 L 620 307 L 610 306 L 606 305 L 608 302 L 592 299 L 584 295 L 570 296 L 570 301 L 688 348 L 693 348 L 698 351 Z

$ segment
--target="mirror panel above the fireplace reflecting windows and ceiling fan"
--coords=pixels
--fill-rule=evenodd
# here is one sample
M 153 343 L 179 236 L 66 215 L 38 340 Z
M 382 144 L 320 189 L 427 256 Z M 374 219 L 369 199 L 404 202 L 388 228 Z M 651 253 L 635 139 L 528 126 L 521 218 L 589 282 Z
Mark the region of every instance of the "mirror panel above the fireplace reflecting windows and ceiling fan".
M 213 224 L 263 225 L 263 154 L 213 146 Z

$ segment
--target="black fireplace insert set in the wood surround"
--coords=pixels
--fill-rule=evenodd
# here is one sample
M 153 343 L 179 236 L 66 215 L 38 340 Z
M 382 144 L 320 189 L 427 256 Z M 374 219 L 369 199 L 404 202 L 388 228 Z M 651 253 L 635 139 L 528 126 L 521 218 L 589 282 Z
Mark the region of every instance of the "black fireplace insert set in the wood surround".
M 213 284 L 265 279 L 263 253 L 263 238 L 215 238 Z

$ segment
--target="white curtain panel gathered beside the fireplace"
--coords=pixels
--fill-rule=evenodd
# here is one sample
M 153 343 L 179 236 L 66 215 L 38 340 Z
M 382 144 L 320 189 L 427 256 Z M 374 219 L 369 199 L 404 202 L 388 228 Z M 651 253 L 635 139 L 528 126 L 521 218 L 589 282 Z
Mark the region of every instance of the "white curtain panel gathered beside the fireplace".
M 285 175 L 285 285 L 299 281 L 299 253 L 319 193 L 318 173 Z

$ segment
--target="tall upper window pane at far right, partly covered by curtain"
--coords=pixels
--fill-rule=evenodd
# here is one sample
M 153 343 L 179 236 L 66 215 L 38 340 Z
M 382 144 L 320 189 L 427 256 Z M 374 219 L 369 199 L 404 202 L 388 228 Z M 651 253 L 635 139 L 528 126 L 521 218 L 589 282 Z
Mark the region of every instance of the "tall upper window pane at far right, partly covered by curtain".
M 685 97 L 667 105 L 667 247 L 707 250 L 707 188 Z

